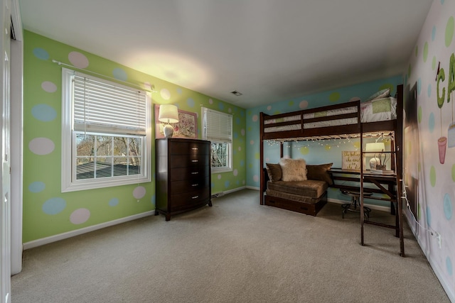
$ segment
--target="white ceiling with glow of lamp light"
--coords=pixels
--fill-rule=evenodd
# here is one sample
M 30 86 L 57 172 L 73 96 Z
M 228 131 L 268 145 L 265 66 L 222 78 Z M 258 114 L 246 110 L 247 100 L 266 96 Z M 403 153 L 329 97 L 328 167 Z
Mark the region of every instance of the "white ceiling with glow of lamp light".
M 19 4 L 28 31 L 251 108 L 401 75 L 432 0 Z

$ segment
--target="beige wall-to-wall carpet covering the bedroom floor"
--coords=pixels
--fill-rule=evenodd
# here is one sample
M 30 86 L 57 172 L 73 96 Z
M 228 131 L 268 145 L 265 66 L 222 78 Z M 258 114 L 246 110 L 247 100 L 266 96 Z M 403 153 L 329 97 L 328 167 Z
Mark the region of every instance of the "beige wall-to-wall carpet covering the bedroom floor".
M 26 250 L 12 302 L 449 302 L 410 229 L 406 258 L 394 232 L 367 225 L 360 246 L 340 204 L 306 216 L 245 189 Z

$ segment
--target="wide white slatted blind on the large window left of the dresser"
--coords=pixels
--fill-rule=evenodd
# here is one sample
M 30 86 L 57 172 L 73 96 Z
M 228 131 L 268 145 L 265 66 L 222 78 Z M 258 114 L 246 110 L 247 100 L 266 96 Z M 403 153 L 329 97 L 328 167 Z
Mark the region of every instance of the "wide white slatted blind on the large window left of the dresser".
M 144 92 L 75 72 L 73 98 L 75 131 L 146 133 Z

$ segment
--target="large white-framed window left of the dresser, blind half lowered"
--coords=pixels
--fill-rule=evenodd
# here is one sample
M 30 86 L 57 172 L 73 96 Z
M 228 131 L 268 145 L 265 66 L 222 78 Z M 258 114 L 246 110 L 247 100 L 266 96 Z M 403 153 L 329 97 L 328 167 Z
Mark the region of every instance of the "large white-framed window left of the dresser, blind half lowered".
M 66 68 L 62 84 L 62 192 L 150 182 L 149 97 Z

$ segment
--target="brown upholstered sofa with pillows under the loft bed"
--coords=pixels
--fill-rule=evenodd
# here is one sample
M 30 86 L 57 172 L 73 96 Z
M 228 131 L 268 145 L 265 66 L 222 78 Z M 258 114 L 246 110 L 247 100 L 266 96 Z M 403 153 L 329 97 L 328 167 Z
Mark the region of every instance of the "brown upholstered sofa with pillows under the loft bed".
M 304 159 L 287 158 L 267 163 L 264 204 L 316 216 L 327 203 L 327 188 L 333 184 L 327 172 L 332 164 L 306 165 Z

